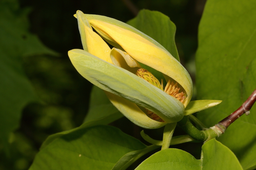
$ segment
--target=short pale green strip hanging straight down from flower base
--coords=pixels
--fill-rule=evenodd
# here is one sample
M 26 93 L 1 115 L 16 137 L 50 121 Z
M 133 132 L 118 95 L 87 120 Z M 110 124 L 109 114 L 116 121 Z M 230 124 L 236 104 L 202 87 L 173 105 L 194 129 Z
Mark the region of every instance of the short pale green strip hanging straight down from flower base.
M 163 144 L 162 144 L 161 150 L 169 148 L 176 125 L 177 125 L 177 122 L 168 123 L 167 125 L 165 125 L 164 135 L 163 135 Z

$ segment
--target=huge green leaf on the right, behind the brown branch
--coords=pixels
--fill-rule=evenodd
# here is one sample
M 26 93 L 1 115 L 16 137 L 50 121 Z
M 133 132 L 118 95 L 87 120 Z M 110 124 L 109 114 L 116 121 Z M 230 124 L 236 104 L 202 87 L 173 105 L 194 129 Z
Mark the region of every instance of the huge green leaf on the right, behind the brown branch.
M 252 62 L 256 56 L 255 9 L 254 0 L 206 3 L 196 54 L 197 96 L 223 100 L 214 109 L 198 114 L 207 126 L 213 126 L 239 108 L 256 88 L 255 61 Z M 218 138 L 237 155 L 244 169 L 255 168 L 255 139 L 255 106 L 249 116 L 240 117 Z

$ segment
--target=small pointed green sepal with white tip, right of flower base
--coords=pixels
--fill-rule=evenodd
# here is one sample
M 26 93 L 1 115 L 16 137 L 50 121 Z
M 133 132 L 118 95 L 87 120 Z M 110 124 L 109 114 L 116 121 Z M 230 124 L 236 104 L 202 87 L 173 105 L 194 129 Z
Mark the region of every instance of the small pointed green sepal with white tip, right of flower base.
M 201 110 L 205 110 L 211 107 L 214 107 L 218 104 L 220 104 L 222 101 L 221 100 L 195 100 L 195 101 L 190 101 L 188 103 L 188 106 L 185 108 L 185 113 L 184 115 L 189 115 L 192 113 L 199 112 Z

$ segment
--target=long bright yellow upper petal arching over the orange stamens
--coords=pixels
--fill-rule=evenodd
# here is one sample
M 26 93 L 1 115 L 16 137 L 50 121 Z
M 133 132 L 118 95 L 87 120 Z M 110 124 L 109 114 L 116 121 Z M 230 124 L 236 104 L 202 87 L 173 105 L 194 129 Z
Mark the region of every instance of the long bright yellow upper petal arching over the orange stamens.
M 187 106 L 193 94 L 193 83 L 187 70 L 170 53 L 132 31 L 100 20 L 92 19 L 89 22 L 121 45 L 132 58 L 177 81 L 187 93 L 184 102 Z

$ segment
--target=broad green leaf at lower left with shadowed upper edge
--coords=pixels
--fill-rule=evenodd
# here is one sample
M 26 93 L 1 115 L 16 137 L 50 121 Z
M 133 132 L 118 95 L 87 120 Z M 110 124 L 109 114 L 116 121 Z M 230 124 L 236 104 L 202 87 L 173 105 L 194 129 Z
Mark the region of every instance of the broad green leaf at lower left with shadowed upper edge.
M 123 155 L 144 148 L 142 142 L 112 126 L 80 128 L 42 148 L 29 170 L 110 170 Z

